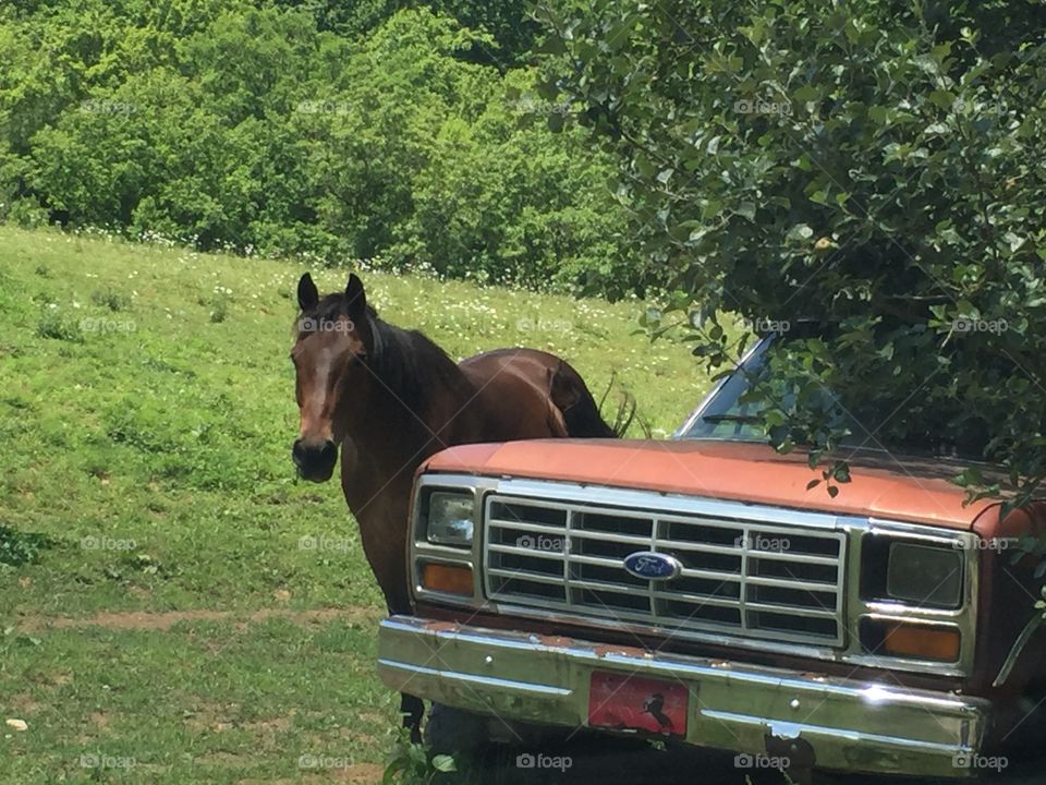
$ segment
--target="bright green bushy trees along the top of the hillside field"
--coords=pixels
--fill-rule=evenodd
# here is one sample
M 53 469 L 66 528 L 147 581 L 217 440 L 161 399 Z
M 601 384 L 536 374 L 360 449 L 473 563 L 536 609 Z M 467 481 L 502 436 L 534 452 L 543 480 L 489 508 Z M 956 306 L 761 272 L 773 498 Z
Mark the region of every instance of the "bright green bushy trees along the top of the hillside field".
M 437 8 L 5 7 L 0 218 L 611 286 L 611 159 L 550 133 L 534 70 L 509 68 L 531 23 L 509 3 Z

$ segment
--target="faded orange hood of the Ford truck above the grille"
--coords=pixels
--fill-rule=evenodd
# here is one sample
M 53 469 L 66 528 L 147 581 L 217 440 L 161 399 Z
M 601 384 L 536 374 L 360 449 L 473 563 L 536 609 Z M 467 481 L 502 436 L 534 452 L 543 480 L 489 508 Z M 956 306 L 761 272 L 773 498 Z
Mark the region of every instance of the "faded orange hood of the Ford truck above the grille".
M 745 442 L 533 439 L 461 445 L 437 452 L 423 470 L 661 491 L 950 529 L 998 520 L 997 503 L 963 505 L 964 491 L 949 480 L 961 468 L 956 463 L 862 452 L 850 466 L 851 482 L 839 485 L 835 498 L 824 483 L 807 490 L 820 470 L 807 466 L 805 454 L 778 455 L 765 444 Z

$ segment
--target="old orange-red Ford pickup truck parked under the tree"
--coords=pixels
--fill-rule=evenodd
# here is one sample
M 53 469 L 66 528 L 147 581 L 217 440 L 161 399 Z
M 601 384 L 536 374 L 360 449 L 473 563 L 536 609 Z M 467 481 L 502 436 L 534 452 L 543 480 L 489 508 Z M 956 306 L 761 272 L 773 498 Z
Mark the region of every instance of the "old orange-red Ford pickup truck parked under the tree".
M 741 402 L 763 339 L 671 439 L 453 447 L 419 470 L 390 688 L 506 724 L 793 771 L 989 775 L 1046 697 L 1046 508 L 952 458 L 855 450 L 831 496 Z M 743 777 L 742 777 L 743 778 Z

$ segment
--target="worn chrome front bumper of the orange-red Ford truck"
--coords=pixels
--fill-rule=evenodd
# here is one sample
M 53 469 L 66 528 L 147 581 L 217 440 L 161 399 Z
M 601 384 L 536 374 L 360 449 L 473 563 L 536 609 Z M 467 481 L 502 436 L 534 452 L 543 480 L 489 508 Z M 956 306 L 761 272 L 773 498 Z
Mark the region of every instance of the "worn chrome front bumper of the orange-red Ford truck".
M 840 771 L 966 776 L 990 718 L 986 700 L 890 684 L 410 616 L 380 625 L 386 685 L 507 721 L 586 725 L 594 671 L 682 681 L 690 744 L 750 756 L 798 744 L 801 758 Z

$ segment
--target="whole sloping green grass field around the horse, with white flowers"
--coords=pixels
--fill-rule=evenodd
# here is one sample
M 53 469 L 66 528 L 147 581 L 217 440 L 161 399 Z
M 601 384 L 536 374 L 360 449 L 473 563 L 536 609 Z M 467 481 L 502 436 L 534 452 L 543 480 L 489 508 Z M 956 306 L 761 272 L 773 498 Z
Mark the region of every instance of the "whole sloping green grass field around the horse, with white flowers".
M 4 783 L 300 782 L 305 753 L 379 770 L 396 713 L 366 620 L 380 594 L 338 485 L 290 461 L 305 269 L 0 227 L 0 723 L 29 726 L 0 727 Z M 634 335 L 638 303 L 362 275 L 385 318 L 452 357 L 547 349 L 597 397 L 615 375 L 659 434 L 708 385 L 685 348 Z M 47 626 L 353 606 L 363 620 Z M 136 765 L 80 765 L 92 754 Z

